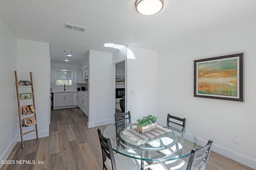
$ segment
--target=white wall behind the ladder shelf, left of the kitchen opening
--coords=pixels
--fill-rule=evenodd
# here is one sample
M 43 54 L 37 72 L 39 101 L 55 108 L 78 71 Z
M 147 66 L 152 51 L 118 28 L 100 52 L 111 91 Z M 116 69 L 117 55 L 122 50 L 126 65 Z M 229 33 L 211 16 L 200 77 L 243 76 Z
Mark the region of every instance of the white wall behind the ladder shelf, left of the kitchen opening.
M 18 39 L 18 80 L 28 80 L 28 76 L 30 76 L 30 72 L 32 72 L 39 138 L 49 135 L 49 61 L 48 43 Z M 27 131 L 27 129 L 29 130 L 29 128 L 30 127 L 24 129 L 24 132 L 25 130 Z M 24 140 L 35 138 L 35 133 L 24 136 Z M 19 133 L 18 140 L 20 141 Z

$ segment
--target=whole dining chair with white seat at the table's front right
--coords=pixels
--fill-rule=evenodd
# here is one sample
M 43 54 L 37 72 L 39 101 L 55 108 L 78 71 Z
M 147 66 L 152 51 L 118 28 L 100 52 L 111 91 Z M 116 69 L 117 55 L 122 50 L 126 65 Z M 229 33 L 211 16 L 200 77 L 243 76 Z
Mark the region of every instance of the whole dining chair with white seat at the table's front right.
M 210 150 L 212 148 L 212 140 L 200 149 L 192 149 L 188 163 L 179 159 L 175 154 L 171 154 L 176 160 L 165 162 L 154 162 L 150 164 L 150 170 L 206 170 Z

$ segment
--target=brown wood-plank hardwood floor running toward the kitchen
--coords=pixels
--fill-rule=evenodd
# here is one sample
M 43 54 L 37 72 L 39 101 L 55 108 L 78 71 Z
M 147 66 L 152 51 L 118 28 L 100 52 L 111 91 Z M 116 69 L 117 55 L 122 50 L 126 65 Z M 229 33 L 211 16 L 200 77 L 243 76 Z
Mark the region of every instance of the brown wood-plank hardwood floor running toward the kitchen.
M 108 125 L 88 129 L 87 121 L 78 108 L 52 110 L 49 137 L 24 141 L 23 149 L 18 142 L 7 159 L 15 164 L 4 164 L 1 170 L 102 170 L 97 129 L 103 131 Z M 253 169 L 211 151 L 207 170 Z

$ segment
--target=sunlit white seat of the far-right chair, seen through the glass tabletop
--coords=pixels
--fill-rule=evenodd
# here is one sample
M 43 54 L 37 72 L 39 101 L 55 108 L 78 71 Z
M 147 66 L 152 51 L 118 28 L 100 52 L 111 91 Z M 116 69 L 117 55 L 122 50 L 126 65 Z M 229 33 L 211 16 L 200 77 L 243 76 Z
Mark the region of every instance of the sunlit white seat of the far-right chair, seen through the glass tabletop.
M 148 144 L 152 147 L 160 147 L 161 141 L 164 145 L 169 145 L 170 143 L 173 142 L 173 139 L 170 139 L 169 137 L 160 137 L 158 139 L 155 139 L 154 141 L 150 141 Z M 179 149 L 182 149 L 183 146 L 178 143 L 178 147 Z M 169 149 L 164 149 L 164 150 L 159 150 L 160 152 L 162 152 L 165 155 L 169 155 L 172 153 L 175 153 L 177 151 L 176 149 L 176 145 L 170 147 Z

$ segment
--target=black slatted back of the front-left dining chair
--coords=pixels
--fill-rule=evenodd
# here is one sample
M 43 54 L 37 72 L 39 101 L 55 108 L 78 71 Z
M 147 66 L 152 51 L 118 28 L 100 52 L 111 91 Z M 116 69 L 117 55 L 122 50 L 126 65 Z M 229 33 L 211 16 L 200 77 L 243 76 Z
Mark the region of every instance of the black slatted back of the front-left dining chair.
M 106 161 L 107 158 L 109 158 L 111 160 L 112 170 L 116 170 L 116 161 L 115 161 L 114 152 L 113 152 L 113 149 L 112 149 L 110 139 L 105 138 L 102 135 L 100 129 L 98 129 L 98 135 L 99 135 L 100 147 L 101 147 L 101 151 L 102 151 L 103 170 L 104 170 L 104 168 L 106 170 L 108 170 L 106 165 L 104 164 L 104 162 Z

